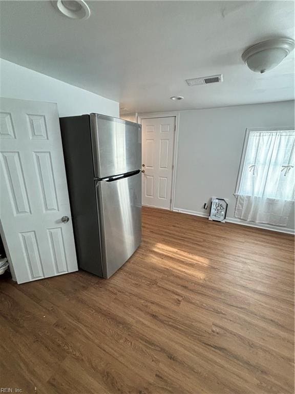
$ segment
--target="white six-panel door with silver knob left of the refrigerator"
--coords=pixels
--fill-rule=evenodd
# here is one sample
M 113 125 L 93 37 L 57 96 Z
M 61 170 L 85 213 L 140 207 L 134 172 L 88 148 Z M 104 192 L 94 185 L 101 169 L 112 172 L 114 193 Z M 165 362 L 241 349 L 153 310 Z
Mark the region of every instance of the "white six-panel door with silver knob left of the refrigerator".
M 0 99 L 0 120 L 0 219 L 17 283 L 76 271 L 56 104 Z

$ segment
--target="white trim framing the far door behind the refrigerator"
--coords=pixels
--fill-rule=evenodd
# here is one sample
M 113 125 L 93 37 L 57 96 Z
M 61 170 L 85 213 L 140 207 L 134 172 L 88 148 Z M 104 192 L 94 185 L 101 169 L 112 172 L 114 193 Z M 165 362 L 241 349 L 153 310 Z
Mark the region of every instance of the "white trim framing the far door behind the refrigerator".
M 139 113 L 137 115 L 137 123 L 141 124 L 142 119 L 152 119 L 153 117 L 175 117 L 175 134 L 173 147 L 173 170 L 172 170 L 172 190 L 171 190 L 171 204 L 170 210 L 175 208 L 175 188 L 176 188 L 176 170 L 177 170 L 177 156 L 178 156 L 178 134 L 179 134 L 179 118 L 180 112 L 149 112 Z

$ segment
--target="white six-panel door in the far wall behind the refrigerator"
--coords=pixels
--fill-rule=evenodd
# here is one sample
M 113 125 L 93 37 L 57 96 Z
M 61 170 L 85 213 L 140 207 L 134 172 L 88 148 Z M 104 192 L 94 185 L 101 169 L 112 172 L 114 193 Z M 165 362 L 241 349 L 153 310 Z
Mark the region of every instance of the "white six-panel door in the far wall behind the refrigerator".
M 175 116 L 142 119 L 142 205 L 171 209 Z

